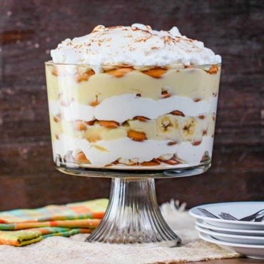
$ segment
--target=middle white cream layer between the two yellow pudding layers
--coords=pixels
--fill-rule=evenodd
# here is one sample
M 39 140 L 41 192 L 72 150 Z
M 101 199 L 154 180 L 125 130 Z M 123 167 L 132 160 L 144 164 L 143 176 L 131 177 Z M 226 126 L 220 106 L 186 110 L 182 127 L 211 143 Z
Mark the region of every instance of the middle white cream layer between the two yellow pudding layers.
M 199 116 L 216 113 L 217 97 L 209 101 L 195 102 L 185 96 L 171 96 L 155 101 L 151 98 L 137 97 L 136 94 L 112 96 L 103 100 L 98 106 L 85 106 L 72 102 L 69 106 L 61 106 L 59 101 L 49 101 L 51 114 L 61 113 L 66 121 L 106 120 L 123 123 L 135 116 L 155 119 L 171 111 L 181 111 L 186 116 Z

